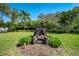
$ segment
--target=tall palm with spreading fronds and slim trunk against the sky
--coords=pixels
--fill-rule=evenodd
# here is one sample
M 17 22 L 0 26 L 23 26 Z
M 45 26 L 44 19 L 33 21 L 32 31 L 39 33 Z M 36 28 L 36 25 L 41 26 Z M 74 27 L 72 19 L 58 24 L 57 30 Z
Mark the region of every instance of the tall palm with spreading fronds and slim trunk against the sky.
M 24 25 L 24 30 L 26 28 L 26 22 L 30 21 L 30 14 L 27 11 L 22 10 L 20 13 L 21 22 Z

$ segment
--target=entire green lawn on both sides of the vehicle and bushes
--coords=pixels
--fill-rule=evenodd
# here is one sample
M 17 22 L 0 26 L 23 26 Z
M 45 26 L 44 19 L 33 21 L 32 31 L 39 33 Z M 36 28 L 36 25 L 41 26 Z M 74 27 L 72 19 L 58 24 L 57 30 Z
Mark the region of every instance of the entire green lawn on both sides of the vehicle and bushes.
M 19 40 L 33 32 L 8 32 L 0 33 L 0 55 L 21 55 L 17 49 Z M 79 34 L 52 34 L 48 33 L 48 37 L 59 38 L 65 49 L 64 55 L 79 56 Z

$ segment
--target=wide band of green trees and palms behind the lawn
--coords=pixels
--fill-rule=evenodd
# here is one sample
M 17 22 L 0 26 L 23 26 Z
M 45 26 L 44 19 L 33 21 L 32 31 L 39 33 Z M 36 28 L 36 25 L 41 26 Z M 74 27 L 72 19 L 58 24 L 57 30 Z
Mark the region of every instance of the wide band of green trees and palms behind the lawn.
M 10 21 L 4 22 L 3 16 L 9 17 Z M 34 30 L 37 27 L 43 27 L 52 32 L 79 33 L 79 7 L 56 13 L 40 13 L 37 20 L 30 20 L 29 12 L 10 9 L 8 4 L 0 4 L 0 27 L 8 27 L 10 31 Z

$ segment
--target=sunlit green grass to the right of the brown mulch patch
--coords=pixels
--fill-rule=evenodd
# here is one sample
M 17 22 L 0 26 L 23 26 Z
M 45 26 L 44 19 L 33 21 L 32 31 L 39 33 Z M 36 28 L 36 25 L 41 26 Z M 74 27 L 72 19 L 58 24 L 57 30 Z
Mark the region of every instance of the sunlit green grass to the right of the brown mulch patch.
M 59 38 L 64 47 L 64 55 L 79 56 L 79 34 L 48 34 L 49 37 Z

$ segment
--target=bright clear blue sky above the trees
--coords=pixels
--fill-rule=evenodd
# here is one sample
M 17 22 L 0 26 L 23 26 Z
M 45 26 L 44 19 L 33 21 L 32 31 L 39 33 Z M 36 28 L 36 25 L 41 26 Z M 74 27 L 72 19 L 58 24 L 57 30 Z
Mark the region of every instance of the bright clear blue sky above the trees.
M 10 8 L 16 8 L 17 10 L 26 10 L 31 15 L 32 20 L 37 20 L 40 13 L 56 13 L 71 10 L 75 6 L 79 6 L 78 3 L 10 3 Z M 9 18 L 4 16 L 4 21 L 9 21 Z

